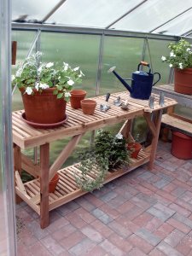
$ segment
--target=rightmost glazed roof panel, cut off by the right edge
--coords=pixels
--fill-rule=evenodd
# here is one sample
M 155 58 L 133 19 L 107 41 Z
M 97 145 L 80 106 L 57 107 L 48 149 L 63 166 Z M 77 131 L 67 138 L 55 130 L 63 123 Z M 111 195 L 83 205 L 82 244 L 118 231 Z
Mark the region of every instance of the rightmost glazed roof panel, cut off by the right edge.
M 154 32 L 163 32 L 164 34 L 172 35 L 183 35 L 183 33 L 188 32 L 192 27 L 192 9 L 183 15 L 178 16 L 176 19 L 168 22 L 165 26 L 161 26 Z

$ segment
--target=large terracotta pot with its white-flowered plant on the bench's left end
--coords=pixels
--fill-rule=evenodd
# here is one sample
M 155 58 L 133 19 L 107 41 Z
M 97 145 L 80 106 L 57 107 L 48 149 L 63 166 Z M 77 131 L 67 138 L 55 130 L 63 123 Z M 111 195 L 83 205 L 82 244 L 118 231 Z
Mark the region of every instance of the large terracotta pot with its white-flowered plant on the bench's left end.
M 66 103 L 74 83 L 81 83 L 84 73 L 63 62 L 61 67 L 53 62 L 41 62 L 37 52 L 24 61 L 13 79 L 25 108 L 26 120 L 34 124 L 54 125 L 66 119 Z

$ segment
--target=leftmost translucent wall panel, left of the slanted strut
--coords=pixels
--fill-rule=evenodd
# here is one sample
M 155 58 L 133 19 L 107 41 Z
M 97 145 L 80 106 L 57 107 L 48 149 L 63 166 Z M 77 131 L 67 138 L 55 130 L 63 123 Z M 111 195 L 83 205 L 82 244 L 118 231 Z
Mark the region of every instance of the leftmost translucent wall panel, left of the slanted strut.
M 15 74 L 18 67 L 26 59 L 26 55 L 31 48 L 33 38 L 35 37 L 36 32 L 27 32 L 27 31 L 12 31 L 12 41 L 17 42 L 17 55 L 16 55 L 16 65 L 12 66 L 12 74 Z M 33 49 L 35 52 L 35 49 Z M 13 110 L 18 110 L 23 108 L 20 91 L 15 90 L 15 93 L 12 97 Z

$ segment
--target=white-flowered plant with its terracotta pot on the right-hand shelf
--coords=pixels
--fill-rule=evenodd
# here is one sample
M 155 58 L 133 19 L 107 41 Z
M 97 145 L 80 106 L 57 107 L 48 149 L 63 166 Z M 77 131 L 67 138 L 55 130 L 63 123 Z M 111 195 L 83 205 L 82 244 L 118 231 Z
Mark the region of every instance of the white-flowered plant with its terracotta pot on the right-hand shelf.
M 174 68 L 174 90 L 192 95 L 192 45 L 185 39 L 168 45 L 170 55 L 161 60 Z

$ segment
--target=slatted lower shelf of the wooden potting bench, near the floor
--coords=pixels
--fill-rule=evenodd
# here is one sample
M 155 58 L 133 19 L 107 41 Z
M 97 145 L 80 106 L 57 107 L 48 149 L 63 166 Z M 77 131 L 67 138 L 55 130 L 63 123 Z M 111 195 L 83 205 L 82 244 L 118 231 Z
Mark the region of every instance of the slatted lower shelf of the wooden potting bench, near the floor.
M 108 172 L 107 177 L 104 183 L 108 183 L 113 179 L 120 177 L 128 172 L 131 172 L 133 169 L 136 169 L 138 166 L 142 166 L 147 163 L 149 160 L 149 154 L 143 150 L 137 156 L 137 159 L 131 159 L 131 164 L 126 169 L 119 168 L 113 169 Z M 63 204 L 66 204 L 69 201 L 73 201 L 75 198 L 78 198 L 81 195 L 84 195 L 88 192 L 79 189 L 75 178 L 73 177 L 74 172 L 80 172 L 79 164 L 73 166 L 67 166 L 64 169 L 58 171 L 60 176 L 59 182 L 57 183 L 54 193 L 49 193 L 49 211 L 60 207 Z M 94 178 L 96 172 L 90 173 L 90 177 Z M 40 215 L 40 183 L 39 178 L 33 179 L 30 182 L 24 183 L 24 188 L 22 191 L 18 186 L 15 187 L 16 194 L 22 198 L 23 201 L 32 207 L 32 209 Z

